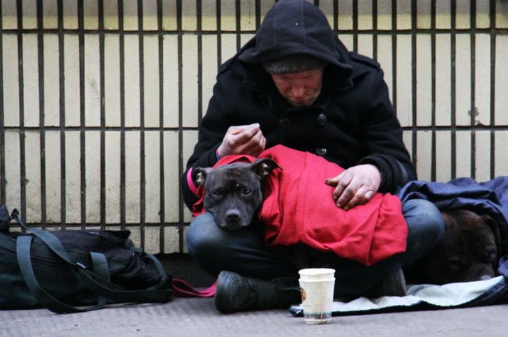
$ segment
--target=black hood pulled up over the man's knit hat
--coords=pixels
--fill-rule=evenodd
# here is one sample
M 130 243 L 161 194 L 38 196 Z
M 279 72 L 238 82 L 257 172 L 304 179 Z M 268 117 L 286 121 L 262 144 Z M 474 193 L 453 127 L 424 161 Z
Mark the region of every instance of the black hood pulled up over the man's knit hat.
M 341 45 L 320 8 L 305 0 L 279 0 L 238 58 L 247 63 L 262 63 L 292 54 L 308 54 L 350 73 L 351 67 L 340 61 Z

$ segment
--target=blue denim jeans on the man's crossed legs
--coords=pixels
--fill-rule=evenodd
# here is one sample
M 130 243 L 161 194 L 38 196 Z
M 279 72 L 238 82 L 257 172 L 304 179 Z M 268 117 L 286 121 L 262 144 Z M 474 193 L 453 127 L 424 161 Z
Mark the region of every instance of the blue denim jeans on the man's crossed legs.
M 337 257 L 335 297 L 363 294 L 390 271 L 419 260 L 442 237 L 444 222 L 440 211 L 427 200 L 408 200 L 402 205 L 408 223 L 408 247 L 372 266 Z M 297 284 L 298 270 L 278 251 L 264 244 L 261 223 L 238 231 L 224 230 L 209 213 L 193 220 L 187 232 L 187 246 L 193 260 L 213 276 L 223 270 L 251 278 L 291 276 Z

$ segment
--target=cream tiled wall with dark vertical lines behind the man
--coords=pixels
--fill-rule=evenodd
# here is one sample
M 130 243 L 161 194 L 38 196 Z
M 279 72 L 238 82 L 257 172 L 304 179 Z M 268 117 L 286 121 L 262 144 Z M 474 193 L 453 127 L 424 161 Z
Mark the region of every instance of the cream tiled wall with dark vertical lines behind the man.
M 272 3 L 1 0 L 0 202 L 185 253 L 179 176 L 218 65 Z M 507 1 L 315 3 L 382 64 L 420 179 L 508 174 Z

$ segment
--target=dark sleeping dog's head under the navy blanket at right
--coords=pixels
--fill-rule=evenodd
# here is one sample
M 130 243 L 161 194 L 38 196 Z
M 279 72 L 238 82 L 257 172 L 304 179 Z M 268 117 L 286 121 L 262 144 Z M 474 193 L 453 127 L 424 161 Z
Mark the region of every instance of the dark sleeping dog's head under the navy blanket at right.
M 487 215 L 468 210 L 443 211 L 444 235 L 425 258 L 425 274 L 433 283 L 493 278 L 500 255 L 500 232 Z

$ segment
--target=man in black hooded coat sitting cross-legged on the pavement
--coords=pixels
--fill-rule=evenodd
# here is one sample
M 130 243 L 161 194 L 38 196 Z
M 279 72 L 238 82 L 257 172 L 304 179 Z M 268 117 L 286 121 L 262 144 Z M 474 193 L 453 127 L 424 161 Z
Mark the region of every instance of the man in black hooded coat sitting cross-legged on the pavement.
M 329 197 L 345 210 L 416 179 L 380 65 L 348 52 L 324 13 L 304 0 L 276 2 L 255 37 L 219 68 L 181 179 L 186 205 L 197 201 L 193 168 L 232 154 L 257 156 L 277 144 L 345 168 L 326 182 L 334 186 Z M 405 294 L 401 268 L 433 248 L 444 225 L 426 200 L 405 202 L 402 213 L 405 252 L 371 266 L 337 256 L 330 266 L 338 277 L 335 297 Z M 244 230 L 224 230 L 205 212 L 188 228 L 191 257 L 218 277 L 221 312 L 284 308 L 301 300 L 297 268 L 265 243 L 263 226 L 254 220 Z

